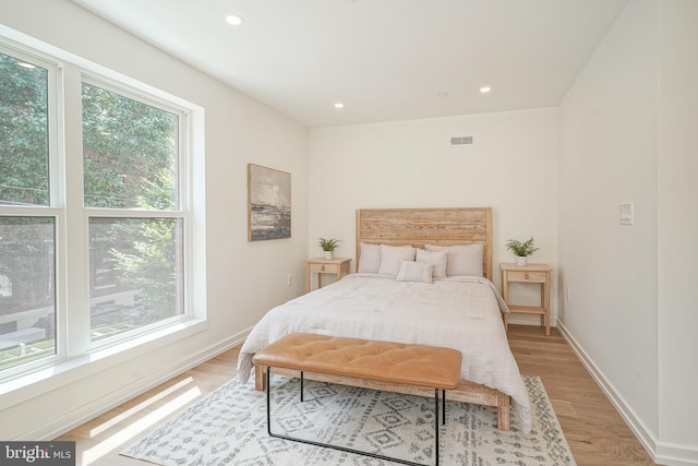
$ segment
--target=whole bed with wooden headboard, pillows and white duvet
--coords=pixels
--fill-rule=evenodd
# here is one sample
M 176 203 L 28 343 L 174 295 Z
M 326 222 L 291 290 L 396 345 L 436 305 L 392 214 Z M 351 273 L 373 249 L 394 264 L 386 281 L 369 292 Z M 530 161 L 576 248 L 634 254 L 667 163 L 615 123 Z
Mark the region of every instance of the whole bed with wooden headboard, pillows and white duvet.
M 294 332 L 452 347 L 464 358 L 448 399 L 495 407 L 502 430 L 512 406 L 530 431 L 508 309 L 491 282 L 491 207 L 359 210 L 356 228 L 357 273 L 269 310 L 241 348 L 240 380 L 255 353 Z M 262 390 L 263 374 L 255 380 Z

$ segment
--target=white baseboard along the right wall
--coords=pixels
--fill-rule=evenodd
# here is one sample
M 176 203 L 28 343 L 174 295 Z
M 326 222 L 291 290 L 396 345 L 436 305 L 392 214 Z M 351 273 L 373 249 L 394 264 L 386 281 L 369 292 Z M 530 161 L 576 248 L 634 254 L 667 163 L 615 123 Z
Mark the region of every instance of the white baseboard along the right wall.
M 583 348 L 577 343 L 574 336 L 565 327 L 564 322 L 557 320 L 557 330 L 567 340 L 573 351 L 577 355 L 581 363 L 587 368 L 593 380 L 599 384 L 603 393 L 609 397 L 611 404 L 621 414 L 621 417 L 628 425 L 640 444 L 647 450 L 652 459 L 660 465 L 667 466 L 696 466 L 698 465 L 698 451 L 683 445 L 670 445 L 660 442 L 650 431 L 637 414 L 625 403 L 623 396 L 614 389 L 613 384 L 603 375 L 593 360 L 587 355 Z

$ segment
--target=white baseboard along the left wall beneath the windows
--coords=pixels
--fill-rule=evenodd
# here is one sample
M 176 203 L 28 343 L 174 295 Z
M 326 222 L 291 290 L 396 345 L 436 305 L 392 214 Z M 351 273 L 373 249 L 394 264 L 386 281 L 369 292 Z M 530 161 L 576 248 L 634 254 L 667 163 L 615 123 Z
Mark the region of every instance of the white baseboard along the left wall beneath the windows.
M 221 342 L 217 342 L 206 348 L 202 348 L 196 354 L 191 355 L 189 358 L 178 361 L 176 365 L 163 368 L 157 372 L 152 373 L 149 377 L 139 379 L 133 383 L 120 387 L 119 390 L 106 394 L 103 398 L 87 403 L 81 406 L 80 409 L 71 411 L 69 417 L 62 417 L 60 419 L 47 420 L 41 427 L 31 431 L 24 432 L 23 438 L 38 439 L 44 441 L 53 440 L 65 432 L 75 429 L 79 426 L 122 405 L 129 399 L 152 390 L 159 384 L 167 382 L 168 380 L 186 372 L 188 370 L 206 362 L 207 360 L 216 357 L 217 355 L 240 345 L 250 334 L 251 328 L 226 338 Z

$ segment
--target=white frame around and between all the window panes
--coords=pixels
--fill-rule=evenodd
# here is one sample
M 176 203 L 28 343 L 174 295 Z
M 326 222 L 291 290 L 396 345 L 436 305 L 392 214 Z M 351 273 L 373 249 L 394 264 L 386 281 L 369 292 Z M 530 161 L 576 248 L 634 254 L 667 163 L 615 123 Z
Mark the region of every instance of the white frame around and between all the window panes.
M 56 355 L 0 372 L 0 395 L 67 373 L 71 379 L 108 358 L 115 363 L 204 331 L 206 322 L 204 109 L 180 97 L 0 25 L 0 51 L 49 69 L 50 206 L 0 206 L 1 215 L 56 218 Z M 38 62 L 37 62 L 38 60 Z M 177 211 L 84 207 L 82 81 L 179 116 Z M 75 101 L 77 99 L 77 101 Z M 79 175 L 75 174 L 80 167 Z M 69 175 L 70 174 L 70 175 Z M 70 180 L 67 180 L 67 176 Z M 77 202 L 80 204 L 77 204 Z M 113 337 L 91 342 L 89 217 L 181 217 L 184 222 L 184 313 Z M 70 231 L 70 234 L 69 234 Z M 70 283 L 69 283 L 70 277 Z M 70 325 L 69 325 L 70 324 Z M 68 333 L 70 328 L 70 334 Z M 81 370 L 76 370 L 81 368 Z M 70 374 L 74 375 L 70 375 Z M 17 395 L 23 398 L 23 395 Z M 1 405 L 1 403 L 0 403 Z M 0 406 L 0 409 L 2 406 Z

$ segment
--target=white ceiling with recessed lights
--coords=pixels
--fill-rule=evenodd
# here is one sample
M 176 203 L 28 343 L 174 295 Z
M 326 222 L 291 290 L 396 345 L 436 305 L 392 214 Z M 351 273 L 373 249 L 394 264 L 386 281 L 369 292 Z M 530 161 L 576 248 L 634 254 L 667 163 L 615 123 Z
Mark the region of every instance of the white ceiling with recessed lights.
M 627 3 L 73 1 L 311 128 L 556 106 Z

